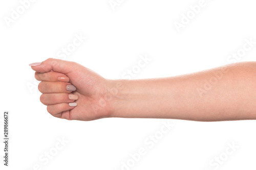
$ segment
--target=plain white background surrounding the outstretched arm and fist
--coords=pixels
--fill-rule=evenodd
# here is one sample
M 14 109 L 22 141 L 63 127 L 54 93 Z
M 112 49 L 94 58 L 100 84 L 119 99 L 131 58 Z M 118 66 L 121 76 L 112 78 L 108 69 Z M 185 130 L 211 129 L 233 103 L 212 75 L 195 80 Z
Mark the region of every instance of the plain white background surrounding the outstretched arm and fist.
M 0 2 L 0 111 L 1 115 L 10 111 L 10 166 L 3 165 L 1 142 L 0 169 L 255 169 L 255 120 L 170 120 L 174 127 L 150 149 L 145 140 L 167 120 L 79 122 L 47 112 L 28 64 L 59 58 L 57 53 L 73 42 L 75 34 L 87 39 L 60 59 L 80 63 L 109 79 L 121 79 L 140 55 L 152 60 L 133 79 L 169 77 L 228 64 L 228 56 L 243 48 L 245 39 L 256 41 L 256 10 L 251 0 L 205 0 L 205 6 L 180 32 L 175 21 L 181 22 L 182 14 L 199 1 L 114 2 L 119 4 L 113 10 L 109 0 L 38 0 L 9 27 L 6 18 L 11 18 L 12 9 L 17 11 L 20 1 Z M 255 47 L 236 62 L 256 61 Z M 3 138 L 3 116 L 0 120 Z M 65 147 L 49 162 L 41 161 L 45 152 L 56 151 L 62 137 L 68 141 Z M 239 148 L 225 157 L 228 143 Z M 135 162 L 130 154 L 139 148 L 146 154 Z M 210 165 L 220 156 L 225 160 L 218 167 Z M 134 164 L 122 168 L 127 161 Z M 36 164 L 39 168 L 34 168 Z

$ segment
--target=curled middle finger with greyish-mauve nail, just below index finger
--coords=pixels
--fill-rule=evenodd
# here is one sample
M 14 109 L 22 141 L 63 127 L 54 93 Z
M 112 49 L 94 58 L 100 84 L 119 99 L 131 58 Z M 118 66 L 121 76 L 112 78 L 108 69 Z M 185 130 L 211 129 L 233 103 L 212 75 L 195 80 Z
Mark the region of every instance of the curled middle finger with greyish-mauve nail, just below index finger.
M 45 82 L 38 84 L 38 90 L 41 93 L 70 93 L 76 90 L 76 87 L 66 82 Z

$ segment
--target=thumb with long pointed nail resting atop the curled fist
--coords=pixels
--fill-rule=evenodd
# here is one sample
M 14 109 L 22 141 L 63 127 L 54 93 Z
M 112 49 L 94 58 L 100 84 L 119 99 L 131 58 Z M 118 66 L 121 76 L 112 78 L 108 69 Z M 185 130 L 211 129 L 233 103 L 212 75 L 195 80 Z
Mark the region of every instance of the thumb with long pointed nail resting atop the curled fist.
M 51 70 L 55 72 L 61 72 L 63 74 L 69 74 L 77 67 L 74 62 L 49 58 L 41 63 L 29 64 L 31 68 L 37 72 L 49 72 Z

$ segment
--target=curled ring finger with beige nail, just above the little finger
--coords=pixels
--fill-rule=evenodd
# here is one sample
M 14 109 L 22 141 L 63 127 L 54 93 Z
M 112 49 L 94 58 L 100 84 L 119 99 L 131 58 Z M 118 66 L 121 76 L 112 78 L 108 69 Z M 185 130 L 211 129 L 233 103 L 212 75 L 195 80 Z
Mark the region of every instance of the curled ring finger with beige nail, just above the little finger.
M 40 96 L 40 102 L 44 105 L 72 103 L 77 99 L 78 95 L 72 93 L 42 93 Z

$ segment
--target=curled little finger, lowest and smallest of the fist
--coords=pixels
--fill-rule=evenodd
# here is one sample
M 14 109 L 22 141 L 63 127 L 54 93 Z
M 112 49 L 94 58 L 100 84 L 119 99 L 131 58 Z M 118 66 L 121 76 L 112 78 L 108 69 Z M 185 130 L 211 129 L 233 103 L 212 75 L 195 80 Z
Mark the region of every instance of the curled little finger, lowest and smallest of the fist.
M 72 104 L 76 104 L 76 103 L 72 103 Z M 71 110 L 73 109 L 75 106 L 70 106 L 68 103 L 59 103 L 56 105 L 48 105 L 47 106 L 47 111 L 55 116 L 55 117 L 59 117 L 61 118 L 61 113 L 67 110 Z

